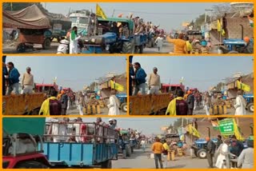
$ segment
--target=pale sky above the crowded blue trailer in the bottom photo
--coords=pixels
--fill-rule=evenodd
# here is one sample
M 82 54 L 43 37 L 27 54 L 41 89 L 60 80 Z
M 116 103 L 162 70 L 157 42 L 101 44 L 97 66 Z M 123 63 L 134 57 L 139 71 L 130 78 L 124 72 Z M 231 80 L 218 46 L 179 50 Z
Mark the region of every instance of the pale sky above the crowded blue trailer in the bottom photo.
M 74 117 L 70 117 L 70 120 L 74 119 Z M 102 117 L 102 121 L 108 123 L 110 117 Z M 172 124 L 177 118 L 159 118 L 159 117 L 122 117 L 115 118 L 118 121 L 118 128 L 122 129 L 137 129 L 142 131 L 143 134 L 151 135 L 152 133 L 159 134 L 162 133 L 161 127 L 169 126 Z M 48 118 L 46 119 L 46 121 Z M 82 117 L 82 121 L 92 122 L 96 121 L 96 117 Z

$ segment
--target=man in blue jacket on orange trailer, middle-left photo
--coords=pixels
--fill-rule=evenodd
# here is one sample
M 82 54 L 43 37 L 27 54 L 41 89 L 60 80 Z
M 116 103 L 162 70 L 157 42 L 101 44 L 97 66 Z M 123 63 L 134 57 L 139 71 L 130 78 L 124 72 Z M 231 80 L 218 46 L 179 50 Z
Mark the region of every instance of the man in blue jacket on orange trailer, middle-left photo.
M 6 80 L 8 82 L 8 89 L 6 95 L 10 95 L 12 91 L 14 91 L 15 94 L 18 94 L 18 82 L 19 82 L 19 76 L 18 70 L 14 68 L 13 62 L 7 63 L 7 68 L 9 69 L 8 75 L 6 76 Z

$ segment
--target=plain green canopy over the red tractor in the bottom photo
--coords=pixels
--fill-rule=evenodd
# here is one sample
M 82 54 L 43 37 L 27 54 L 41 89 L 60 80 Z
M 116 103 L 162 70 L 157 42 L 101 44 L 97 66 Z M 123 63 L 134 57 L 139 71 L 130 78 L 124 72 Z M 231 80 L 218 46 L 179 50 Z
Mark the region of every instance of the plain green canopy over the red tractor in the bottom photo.
M 44 117 L 4 117 L 2 119 L 3 130 L 7 134 L 29 133 L 43 135 L 46 118 Z

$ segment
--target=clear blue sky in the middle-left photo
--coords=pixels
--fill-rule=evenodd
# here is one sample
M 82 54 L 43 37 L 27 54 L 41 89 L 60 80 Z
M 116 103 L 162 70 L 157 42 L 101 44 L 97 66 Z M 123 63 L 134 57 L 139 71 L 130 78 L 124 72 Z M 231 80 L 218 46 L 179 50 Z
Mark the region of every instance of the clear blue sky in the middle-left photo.
M 90 85 L 106 74 L 126 72 L 125 57 L 7 56 L 6 62 L 14 62 L 21 75 L 26 72 L 26 67 L 30 66 L 36 83 L 52 84 L 57 77 L 59 86 L 73 90 L 81 90 L 84 85 Z

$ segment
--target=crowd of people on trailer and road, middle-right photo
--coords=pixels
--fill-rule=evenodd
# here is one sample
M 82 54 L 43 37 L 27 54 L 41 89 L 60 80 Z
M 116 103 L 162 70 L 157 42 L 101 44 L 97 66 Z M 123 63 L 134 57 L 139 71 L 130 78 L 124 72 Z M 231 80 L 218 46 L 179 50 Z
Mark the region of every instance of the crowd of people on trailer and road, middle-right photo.
M 130 63 L 129 93 L 136 96 L 138 93 L 160 94 L 162 91 L 161 76 L 158 68 L 154 67 L 153 72 L 148 76 L 138 62 Z M 181 83 L 182 85 L 182 83 Z M 146 89 L 148 91 L 146 92 Z M 199 92 L 198 89 L 178 89 L 170 92 L 170 104 L 167 107 L 166 115 L 193 115 L 196 109 L 205 109 L 206 115 L 210 115 L 210 109 L 214 105 L 225 104 L 229 100 L 224 93 Z M 246 115 L 246 100 L 242 97 L 242 90 L 238 90 L 234 105 L 234 115 Z

